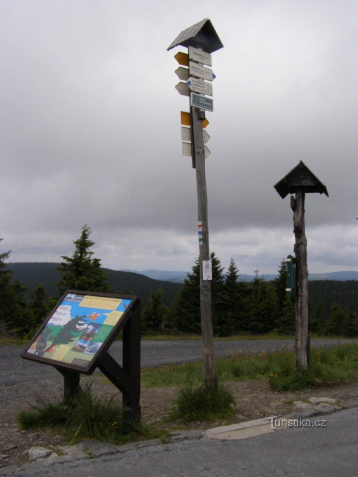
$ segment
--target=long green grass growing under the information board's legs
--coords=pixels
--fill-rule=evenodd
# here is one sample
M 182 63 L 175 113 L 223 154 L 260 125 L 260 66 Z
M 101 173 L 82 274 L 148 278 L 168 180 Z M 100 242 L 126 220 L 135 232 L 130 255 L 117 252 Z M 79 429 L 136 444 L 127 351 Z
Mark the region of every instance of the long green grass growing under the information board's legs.
M 54 428 L 71 443 L 89 438 L 123 444 L 168 434 L 131 419 L 114 396 L 94 396 L 90 385 L 84 386 L 71 405 L 63 400 L 39 400 L 30 410 L 21 411 L 17 422 L 22 429 Z

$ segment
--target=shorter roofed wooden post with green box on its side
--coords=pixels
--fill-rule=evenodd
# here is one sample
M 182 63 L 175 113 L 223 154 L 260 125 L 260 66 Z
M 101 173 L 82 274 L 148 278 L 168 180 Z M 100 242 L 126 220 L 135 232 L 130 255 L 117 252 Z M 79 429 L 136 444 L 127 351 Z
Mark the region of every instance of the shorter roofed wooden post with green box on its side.
M 300 161 L 284 176 L 274 188 L 282 198 L 291 196 L 291 208 L 294 212 L 295 233 L 295 366 L 307 369 L 309 365 L 310 344 L 308 336 L 308 268 L 307 239 L 305 236 L 305 194 L 324 193 L 328 197 L 326 186 Z

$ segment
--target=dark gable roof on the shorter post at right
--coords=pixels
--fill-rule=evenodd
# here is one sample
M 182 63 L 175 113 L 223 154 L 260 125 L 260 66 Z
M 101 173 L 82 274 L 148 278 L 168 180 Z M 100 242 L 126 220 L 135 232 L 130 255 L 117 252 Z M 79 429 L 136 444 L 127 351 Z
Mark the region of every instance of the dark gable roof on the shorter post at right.
M 326 186 L 317 179 L 302 161 L 277 182 L 274 188 L 283 199 L 288 194 L 294 194 L 298 188 L 303 189 L 305 193 L 319 192 L 320 194 L 326 194 L 328 197 Z

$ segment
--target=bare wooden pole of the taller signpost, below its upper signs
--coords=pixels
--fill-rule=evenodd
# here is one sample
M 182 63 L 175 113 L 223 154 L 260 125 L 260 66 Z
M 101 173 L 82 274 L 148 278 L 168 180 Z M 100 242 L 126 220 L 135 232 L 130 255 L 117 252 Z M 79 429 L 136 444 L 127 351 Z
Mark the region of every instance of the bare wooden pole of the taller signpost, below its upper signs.
M 205 150 L 202 133 L 202 117 L 198 108 L 190 107 L 193 145 L 195 154 L 196 184 L 198 192 L 198 221 L 201 222 L 202 243 L 199 245 L 200 260 L 200 316 L 203 340 L 204 379 L 207 388 L 217 386 L 214 363 L 214 343 L 211 322 L 211 280 L 204 280 L 203 260 L 210 260 L 208 198 L 205 178 Z

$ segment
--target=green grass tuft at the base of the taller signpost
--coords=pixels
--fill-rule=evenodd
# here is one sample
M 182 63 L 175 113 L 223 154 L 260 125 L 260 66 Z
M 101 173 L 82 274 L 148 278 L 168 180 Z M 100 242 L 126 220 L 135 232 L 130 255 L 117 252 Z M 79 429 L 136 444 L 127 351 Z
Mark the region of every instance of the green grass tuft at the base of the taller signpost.
M 184 422 L 225 419 L 236 413 L 230 404 L 235 404 L 232 394 L 219 385 L 217 389 L 205 389 L 204 384 L 183 385 L 177 391 L 171 419 Z

